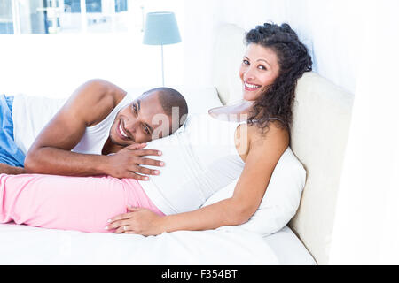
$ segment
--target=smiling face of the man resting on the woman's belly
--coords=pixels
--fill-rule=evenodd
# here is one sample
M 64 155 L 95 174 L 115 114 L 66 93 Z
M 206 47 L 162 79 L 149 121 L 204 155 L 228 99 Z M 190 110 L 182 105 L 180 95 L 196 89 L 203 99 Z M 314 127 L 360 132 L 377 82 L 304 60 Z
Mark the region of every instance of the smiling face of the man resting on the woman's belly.
M 150 142 L 169 134 L 171 118 L 160 105 L 158 93 L 139 96 L 118 112 L 110 130 L 111 141 L 120 146 Z

